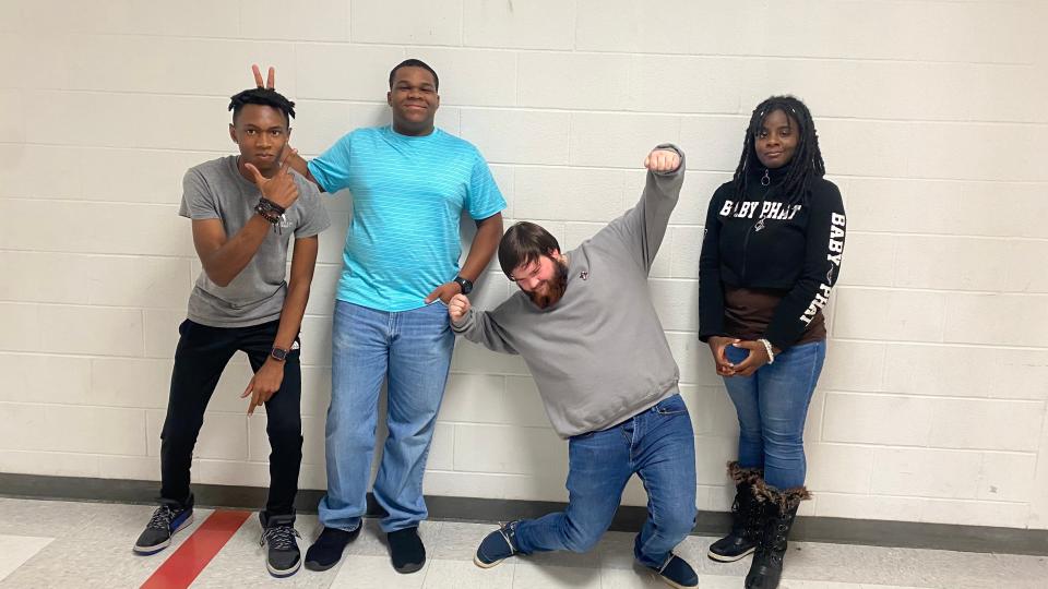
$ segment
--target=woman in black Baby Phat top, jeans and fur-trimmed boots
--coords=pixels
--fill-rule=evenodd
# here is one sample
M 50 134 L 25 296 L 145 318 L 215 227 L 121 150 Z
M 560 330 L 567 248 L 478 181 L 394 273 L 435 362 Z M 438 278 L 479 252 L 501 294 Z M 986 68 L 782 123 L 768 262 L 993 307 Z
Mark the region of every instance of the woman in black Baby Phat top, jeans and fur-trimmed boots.
M 739 417 L 731 532 L 710 557 L 754 552 L 747 588 L 774 588 L 805 488 L 803 430 L 826 350 L 822 308 L 844 252 L 844 204 L 825 180 L 811 113 L 793 96 L 753 110 L 735 177 L 710 201 L 699 337 Z

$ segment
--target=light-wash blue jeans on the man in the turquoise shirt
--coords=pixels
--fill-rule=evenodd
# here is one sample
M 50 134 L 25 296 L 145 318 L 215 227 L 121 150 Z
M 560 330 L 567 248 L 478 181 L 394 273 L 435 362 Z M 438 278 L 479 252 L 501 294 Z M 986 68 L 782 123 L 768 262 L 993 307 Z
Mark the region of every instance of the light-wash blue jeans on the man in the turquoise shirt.
M 321 524 L 353 530 L 367 512 L 383 381 L 389 436 L 373 488 L 388 514 L 381 526 L 390 532 L 426 519 L 422 474 L 454 344 L 441 302 L 398 313 L 335 302 Z

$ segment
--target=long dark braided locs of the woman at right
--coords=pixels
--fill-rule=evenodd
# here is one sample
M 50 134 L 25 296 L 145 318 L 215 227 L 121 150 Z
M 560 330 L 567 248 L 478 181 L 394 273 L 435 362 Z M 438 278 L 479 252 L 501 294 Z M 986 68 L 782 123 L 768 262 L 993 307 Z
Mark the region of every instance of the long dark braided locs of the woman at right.
M 783 179 L 782 190 L 788 204 L 807 203 L 811 181 L 822 178 L 826 173 L 826 166 L 822 161 L 822 152 L 819 149 L 819 136 L 815 134 L 815 123 L 811 120 L 811 112 L 799 99 L 793 96 L 772 96 L 757 105 L 750 116 L 750 125 L 746 129 L 746 141 L 742 144 L 742 156 L 739 167 L 735 169 L 736 193 L 738 201 L 742 200 L 749 183 L 749 171 L 760 166 L 753 143 L 761 132 L 764 119 L 776 110 L 782 110 L 791 123 L 798 127 L 799 137 L 793 159 L 786 164 L 786 177 Z

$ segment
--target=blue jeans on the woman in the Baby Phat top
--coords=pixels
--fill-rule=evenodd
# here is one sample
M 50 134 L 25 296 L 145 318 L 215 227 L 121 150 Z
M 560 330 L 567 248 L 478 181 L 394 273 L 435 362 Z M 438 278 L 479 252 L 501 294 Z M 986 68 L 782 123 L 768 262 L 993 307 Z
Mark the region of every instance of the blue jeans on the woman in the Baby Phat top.
M 728 346 L 738 364 L 749 352 Z M 786 490 L 805 484 L 805 418 L 826 358 L 826 342 L 794 346 L 751 376 L 724 378 L 739 414 L 739 466 L 763 468 L 764 481 Z

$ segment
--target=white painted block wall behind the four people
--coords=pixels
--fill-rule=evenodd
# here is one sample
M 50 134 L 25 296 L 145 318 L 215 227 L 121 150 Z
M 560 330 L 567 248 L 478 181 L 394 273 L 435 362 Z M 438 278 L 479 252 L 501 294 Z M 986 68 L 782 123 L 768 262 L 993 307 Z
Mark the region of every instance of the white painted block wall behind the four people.
M 156 479 L 176 326 L 200 272 L 184 169 L 229 153 L 226 97 L 274 64 L 315 155 L 389 121 L 389 69 L 441 73 L 438 122 L 573 248 L 631 206 L 655 143 L 689 157 L 652 290 L 681 369 L 699 506 L 725 509 L 734 410 L 695 337 L 706 203 L 750 109 L 812 108 L 849 237 L 806 440 L 803 513 L 1048 529 L 1048 51 L 1038 0 L 0 2 L 0 470 Z M 279 14 L 279 16 L 274 16 Z M 303 323 L 303 488 L 324 485 L 330 318 L 349 204 Z M 512 291 L 497 267 L 478 303 Z M 194 479 L 266 484 L 235 359 Z M 567 445 L 515 357 L 460 342 L 433 494 L 565 498 Z M 626 503 L 643 502 L 628 488 Z

